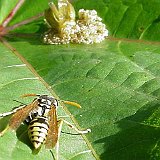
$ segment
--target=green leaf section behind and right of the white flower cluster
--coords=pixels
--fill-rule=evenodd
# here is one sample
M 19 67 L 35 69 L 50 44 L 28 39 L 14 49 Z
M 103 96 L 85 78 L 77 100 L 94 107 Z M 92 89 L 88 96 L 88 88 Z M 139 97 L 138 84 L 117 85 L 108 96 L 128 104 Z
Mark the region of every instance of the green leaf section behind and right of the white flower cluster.
M 95 9 L 105 21 L 110 35 L 118 38 L 160 40 L 158 0 L 77 0 L 80 8 Z

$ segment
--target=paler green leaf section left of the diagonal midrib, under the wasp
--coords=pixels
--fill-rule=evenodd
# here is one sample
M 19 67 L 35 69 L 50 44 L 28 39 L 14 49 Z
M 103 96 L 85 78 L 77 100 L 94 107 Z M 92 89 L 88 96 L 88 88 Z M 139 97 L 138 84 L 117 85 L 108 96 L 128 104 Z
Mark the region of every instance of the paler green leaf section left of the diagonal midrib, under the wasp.
M 36 75 L 34 74 L 34 70 L 30 68 L 27 63 L 25 64 L 25 60 L 19 60 L 19 58 L 21 57 L 16 51 L 12 50 L 13 52 L 11 52 L 2 44 L 0 46 L 0 51 L 0 58 L 2 60 L 0 65 L 0 105 L 2 106 L 0 108 L 1 113 L 10 111 L 13 107 L 20 105 L 13 100 L 18 100 L 25 104 L 31 103 L 31 99 L 21 99 L 20 96 L 22 94 L 51 94 L 49 93 L 49 90 L 47 90 L 44 86 L 43 81 L 36 77 Z M 62 108 L 60 108 L 58 112 L 61 116 L 67 116 Z M 66 119 L 69 120 L 69 118 Z M 4 119 L 1 119 L 0 122 L 2 130 L 2 128 L 4 128 L 3 123 L 5 121 Z M 66 127 L 63 129 L 65 132 L 72 132 L 72 130 Z M 0 159 L 16 160 L 19 159 L 18 157 L 23 157 L 24 160 L 48 158 L 52 159 L 49 150 L 45 150 L 44 148 L 37 155 L 32 154 L 32 150 L 30 149 L 32 146 L 29 143 L 26 132 L 26 126 L 21 126 L 16 133 L 6 133 L 3 138 L 0 138 L 0 149 L 2 153 L 0 155 Z M 75 143 L 78 143 L 78 145 L 76 146 Z M 70 159 L 71 157 L 73 158 L 75 156 L 77 157 L 77 159 L 80 157 L 83 157 L 83 159 L 92 157 L 81 136 L 72 137 L 71 135 L 68 136 L 62 134 L 60 144 L 61 159 Z

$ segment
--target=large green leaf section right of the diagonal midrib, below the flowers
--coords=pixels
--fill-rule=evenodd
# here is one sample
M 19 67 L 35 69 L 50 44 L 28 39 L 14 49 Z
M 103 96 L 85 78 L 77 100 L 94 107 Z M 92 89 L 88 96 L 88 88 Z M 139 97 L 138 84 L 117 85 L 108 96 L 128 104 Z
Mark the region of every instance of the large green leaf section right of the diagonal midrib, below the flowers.
M 59 97 L 82 105 L 69 110 L 91 128 L 86 136 L 101 159 L 159 156 L 159 46 L 20 44 L 12 43 Z

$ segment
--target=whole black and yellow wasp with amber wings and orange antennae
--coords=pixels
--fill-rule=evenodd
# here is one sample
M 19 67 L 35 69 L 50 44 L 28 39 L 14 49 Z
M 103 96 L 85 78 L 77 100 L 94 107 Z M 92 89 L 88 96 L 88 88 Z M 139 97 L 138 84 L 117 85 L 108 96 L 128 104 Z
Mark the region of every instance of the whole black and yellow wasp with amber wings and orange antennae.
M 56 145 L 56 159 L 58 159 L 58 142 L 63 123 L 66 123 L 69 127 L 73 128 L 78 134 L 91 132 L 90 129 L 79 130 L 68 121 L 58 119 L 57 108 L 59 106 L 59 100 L 55 97 L 37 94 L 25 94 L 22 97 L 29 96 L 36 97 L 32 103 L 28 105 L 21 105 L 10 112 L 0 114 L 0 117 L 11 115 L 6 128 L 0 132 L 0 136 L 3 136 L 9 129 L 16 130 L 21 123 L 25 122 L 28 125 L 28 136 L 34 149 L 40 149 L 42 144 L 44 144 L 47 149 L 52 149 Z M 75 102 L 62 102 L 64 104 L 81 108 L 81 106 Z

